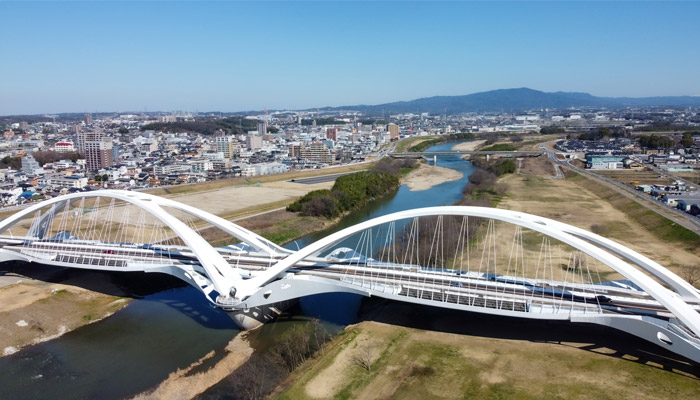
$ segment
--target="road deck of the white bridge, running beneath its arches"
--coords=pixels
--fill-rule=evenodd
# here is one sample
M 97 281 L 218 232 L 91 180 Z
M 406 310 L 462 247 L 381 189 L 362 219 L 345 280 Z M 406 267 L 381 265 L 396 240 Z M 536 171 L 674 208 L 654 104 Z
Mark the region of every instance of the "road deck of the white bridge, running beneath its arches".
M 111 271 L 133 270 L 131 267 L 135 266 L 136 270 L 147 272 L 149 268 L 175 265 L 203 271 L 195 255 L 186 247 L 46 241 L 18 244 L 14 238 L 3 237 L 0 237 L 0 246 L 3 251 L 58 266 Z M 238 270 L 244 278 L 256 276 L 277 261 L 230 248 L 219 248 L 218 251 L 232 270 Z M 373 267 L 367 267 L 325 258 L 299 262 L 290 272 L 332 279 L 380 297 L 390 294 L 414 298 L 426 304 L 449 303 L 470 309 L 481 307 L 525 314 L 623 313 L 672 317 L 648 294 L 612 286 L 431 270 L 416 265 L 375 263 Z M 700 305 L 696 305 L 696 309 L 700 312 Z

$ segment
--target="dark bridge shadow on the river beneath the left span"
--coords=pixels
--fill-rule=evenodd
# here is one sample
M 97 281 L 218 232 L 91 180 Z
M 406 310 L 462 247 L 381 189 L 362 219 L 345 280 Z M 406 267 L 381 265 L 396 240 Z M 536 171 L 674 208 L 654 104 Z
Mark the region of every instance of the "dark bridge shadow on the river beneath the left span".
M 0 263 L 0 276 L 75 286 L 139 302 L 158 302 L 206 328 L 237 329 L 233 320 L 225 312 L 211 306 L 201 292 L 167 274 L 95 271 L 28 262 L 5 262 Z M 133 306 L 134 304 L 130 305 Z

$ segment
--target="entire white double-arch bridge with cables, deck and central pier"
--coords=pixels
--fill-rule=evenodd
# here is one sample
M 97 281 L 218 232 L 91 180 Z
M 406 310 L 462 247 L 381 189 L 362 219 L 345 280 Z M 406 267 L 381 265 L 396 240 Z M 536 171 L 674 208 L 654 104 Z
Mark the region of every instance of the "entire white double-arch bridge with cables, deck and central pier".
M 0 221 L 0 261 L 174 275 L 243 328 L 303 296 L 415 304 L 613 327 L 700 362 L 700 292 L 609 239 L 483 207 L 398 212 L 298 251 L 137 192 L 75 193 Z

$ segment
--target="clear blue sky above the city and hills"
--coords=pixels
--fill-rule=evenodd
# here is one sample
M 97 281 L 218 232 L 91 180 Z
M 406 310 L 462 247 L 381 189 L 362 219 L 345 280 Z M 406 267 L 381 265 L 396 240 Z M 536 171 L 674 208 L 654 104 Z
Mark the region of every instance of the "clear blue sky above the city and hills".
M 0 2 L 0 115 L 700 95 L 698 2 Z

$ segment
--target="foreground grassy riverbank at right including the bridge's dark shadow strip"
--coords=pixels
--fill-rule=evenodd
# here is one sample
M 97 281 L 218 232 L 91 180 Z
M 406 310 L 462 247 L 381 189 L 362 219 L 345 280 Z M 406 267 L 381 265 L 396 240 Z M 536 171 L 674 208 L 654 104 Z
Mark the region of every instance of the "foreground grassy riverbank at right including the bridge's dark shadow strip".
M 700 390 L 692 365 L 616 331 L 367 303 L 367 320 L 348 326 L 270 397 L 694 399 Z

